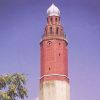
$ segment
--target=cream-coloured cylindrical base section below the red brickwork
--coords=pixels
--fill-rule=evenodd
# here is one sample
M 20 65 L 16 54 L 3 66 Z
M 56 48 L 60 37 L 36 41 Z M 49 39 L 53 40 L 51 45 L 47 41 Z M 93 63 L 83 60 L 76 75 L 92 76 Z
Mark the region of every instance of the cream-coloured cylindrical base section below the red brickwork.
M 70 86 L 67 81 L 43 81 L 40 83 L 39 100 L 70 100 Z

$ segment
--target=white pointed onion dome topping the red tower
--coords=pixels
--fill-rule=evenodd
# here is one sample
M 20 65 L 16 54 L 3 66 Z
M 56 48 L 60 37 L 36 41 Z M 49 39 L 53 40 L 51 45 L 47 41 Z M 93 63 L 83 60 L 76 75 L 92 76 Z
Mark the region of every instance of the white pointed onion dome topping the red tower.
M 60 16 L 60 10 L 54 4 L 47 9 L 48 16 Z

